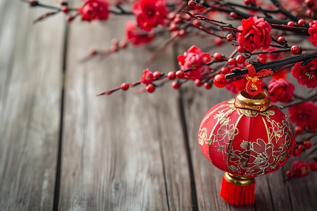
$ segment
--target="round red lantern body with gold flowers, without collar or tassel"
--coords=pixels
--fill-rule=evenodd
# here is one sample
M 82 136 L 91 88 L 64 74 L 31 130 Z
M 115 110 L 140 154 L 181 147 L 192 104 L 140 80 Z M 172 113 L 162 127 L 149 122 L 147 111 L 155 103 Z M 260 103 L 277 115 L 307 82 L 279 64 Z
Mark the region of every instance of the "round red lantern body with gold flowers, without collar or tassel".
M 205 115 L 199 142 L 216 167 L 250 178 L 278 170 L 295 145 L 292 125 L 279 107 L 263 111 L 237 108 L 234 99 L 214 106 Z

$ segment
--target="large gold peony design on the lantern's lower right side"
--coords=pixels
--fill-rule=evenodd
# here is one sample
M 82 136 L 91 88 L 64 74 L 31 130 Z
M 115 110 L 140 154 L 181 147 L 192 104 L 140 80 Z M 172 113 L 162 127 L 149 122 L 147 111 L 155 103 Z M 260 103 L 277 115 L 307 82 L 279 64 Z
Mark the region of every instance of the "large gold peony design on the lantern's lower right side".
M 241 173 L 243 170 L 247 177 L 264 175 L 282 167 L 281 163 L 290 156 L 292 143 L 288 140 L 293 136 L 293 131 L 287 117 L 285 116 L 282 123 L 269 117 L 266 120 L 270 124 L 267 131 L 269 142 L 266 143 L 262 139 L 257 139 L 255 142 L 243 140 L 240 144 L 243 150 L 230 148 L 227 155 L 229 162 L 232 163 L 228 165 L 231 173 Z M 240 166 L 240 169 L 238 170 L 236 166 Z

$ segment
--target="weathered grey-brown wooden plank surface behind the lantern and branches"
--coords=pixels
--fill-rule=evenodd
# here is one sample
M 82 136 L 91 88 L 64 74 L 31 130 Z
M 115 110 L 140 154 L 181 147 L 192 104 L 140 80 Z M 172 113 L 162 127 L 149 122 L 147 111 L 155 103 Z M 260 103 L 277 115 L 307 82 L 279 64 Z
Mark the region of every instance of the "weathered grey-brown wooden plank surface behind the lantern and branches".
M 175 70 L 176 56 L 193 40 L 150 64 L 163 40 L 80 63 L 90 47 L 107 49 L 112 38 L 124 38 L 118 26 L 132 17 L 68 25 L 59 14 L 32 24 L 46 11 L 0 2 L 0 210 L 317 209 L 316 174 L 286 181 L 294 158 L 256 178 L 254 205 L 219 197 L 223 172 L 196 139 L 209 108 L 233 97 L 225 90 L 167 84 L 153 94 L 135 88 L 95 97 L 139 80 L 147 67 Z

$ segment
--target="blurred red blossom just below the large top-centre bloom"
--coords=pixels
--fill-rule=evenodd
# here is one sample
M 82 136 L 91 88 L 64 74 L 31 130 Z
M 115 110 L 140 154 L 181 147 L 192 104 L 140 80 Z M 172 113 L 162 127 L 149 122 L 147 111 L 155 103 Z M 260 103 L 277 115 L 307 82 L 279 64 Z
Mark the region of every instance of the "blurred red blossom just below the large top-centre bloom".
M 139 46 L 144 43 L 149 43 L 154 37 L 154 34 L 140 30 L 137 23 L 134 21 L 127 21 L 126 37 L 129 42 L 133 43 L 135 46 Z

